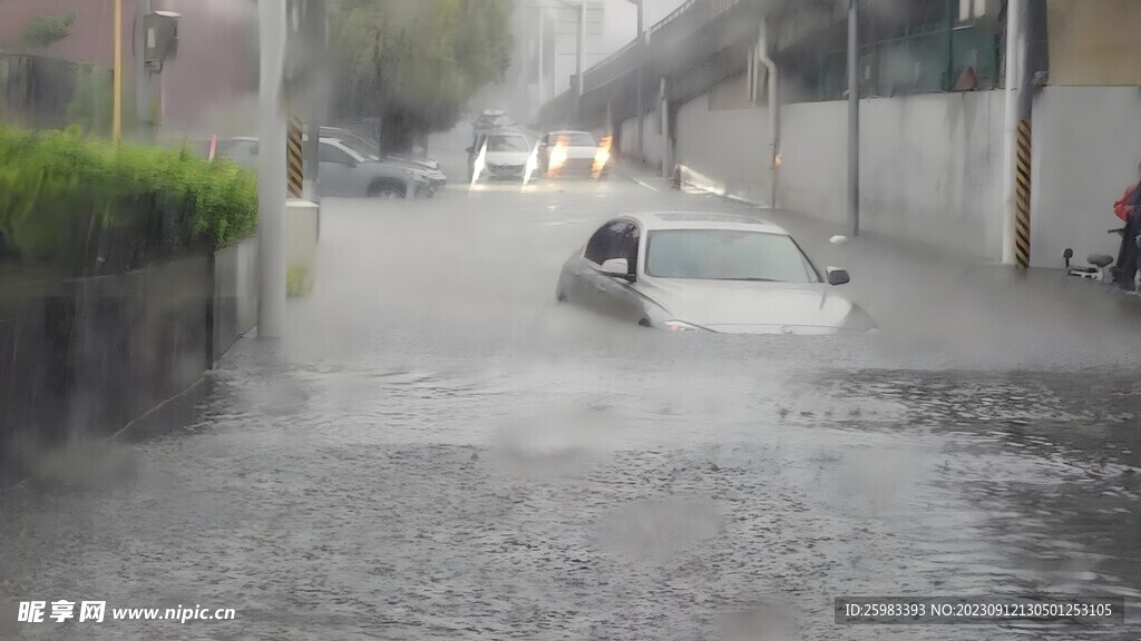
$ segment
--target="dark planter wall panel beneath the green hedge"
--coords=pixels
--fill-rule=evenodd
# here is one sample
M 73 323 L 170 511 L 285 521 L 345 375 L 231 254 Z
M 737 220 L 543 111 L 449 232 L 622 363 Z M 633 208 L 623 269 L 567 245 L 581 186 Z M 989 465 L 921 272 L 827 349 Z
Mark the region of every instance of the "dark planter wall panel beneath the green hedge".
M 211 260 L 0 289 L 0 480 L 75 436 L 105 436 L 210 366 Z M 7 343 L 7 347 L 6 344 Z

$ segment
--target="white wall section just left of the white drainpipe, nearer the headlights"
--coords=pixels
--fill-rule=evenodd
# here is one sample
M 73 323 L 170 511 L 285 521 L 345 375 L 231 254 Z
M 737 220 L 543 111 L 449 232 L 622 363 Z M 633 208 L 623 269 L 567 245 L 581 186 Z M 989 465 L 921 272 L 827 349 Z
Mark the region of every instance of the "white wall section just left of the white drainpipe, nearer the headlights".
M 677 164 L 712 178 L 719 189 L 769 201 L 768 112 L 711 109 L 705 94 L 678 109 Z

